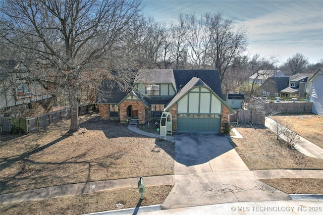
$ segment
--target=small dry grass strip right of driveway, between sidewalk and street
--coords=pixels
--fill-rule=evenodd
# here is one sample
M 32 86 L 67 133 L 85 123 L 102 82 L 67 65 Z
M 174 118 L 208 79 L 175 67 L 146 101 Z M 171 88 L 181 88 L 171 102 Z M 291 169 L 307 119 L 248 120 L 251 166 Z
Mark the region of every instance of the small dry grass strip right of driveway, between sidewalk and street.
M 283 178 L 262 179 L 259 181 L 289 194 L 323 194 L 323 179 Z

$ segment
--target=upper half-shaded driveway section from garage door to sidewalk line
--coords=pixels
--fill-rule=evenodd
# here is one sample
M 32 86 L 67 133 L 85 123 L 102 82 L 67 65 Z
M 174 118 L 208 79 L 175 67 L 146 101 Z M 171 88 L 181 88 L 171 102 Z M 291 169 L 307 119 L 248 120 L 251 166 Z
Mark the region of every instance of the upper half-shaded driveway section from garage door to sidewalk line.
M 175 143 L 175 175 L 249 170 L 224 136 L 181 133 Z

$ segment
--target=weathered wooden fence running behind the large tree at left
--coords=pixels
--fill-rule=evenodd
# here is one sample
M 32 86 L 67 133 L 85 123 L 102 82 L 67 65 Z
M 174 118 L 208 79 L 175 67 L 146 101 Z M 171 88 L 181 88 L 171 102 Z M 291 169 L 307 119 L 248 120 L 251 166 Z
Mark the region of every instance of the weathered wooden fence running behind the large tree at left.
M 95 110 L 94 104 L 79 107 L 79 116 L 91 113 Z M 70 119 L 70 110 L 62 109 L 49 112 L 35 117 L 26 118 L 1 118 L 1 132 L 22 132 L 28 134 L 31 131 L 38 130 L 62 120 Z

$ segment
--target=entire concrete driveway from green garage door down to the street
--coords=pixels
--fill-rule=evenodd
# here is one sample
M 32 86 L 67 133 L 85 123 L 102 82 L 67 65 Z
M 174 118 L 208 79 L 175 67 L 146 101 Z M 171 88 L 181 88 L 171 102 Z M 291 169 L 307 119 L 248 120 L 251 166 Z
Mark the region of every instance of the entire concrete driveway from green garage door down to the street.
M 256 180 L 226 137 L 175 136 L 175 185 L 163 207 L 289 199 L 288 194 Z

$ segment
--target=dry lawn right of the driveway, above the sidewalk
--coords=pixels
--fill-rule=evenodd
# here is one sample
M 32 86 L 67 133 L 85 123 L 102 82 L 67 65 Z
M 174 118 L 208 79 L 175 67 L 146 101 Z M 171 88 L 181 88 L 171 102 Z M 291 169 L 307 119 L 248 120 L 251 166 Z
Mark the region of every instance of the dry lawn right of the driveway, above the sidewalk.
M 278 141 L 274 132 L 264 126 L 237 127 L 243 139 L 233 138 L 232 145 L 250 170 L 317 169 L 323 170 L 323 159 L 305 156 Z

